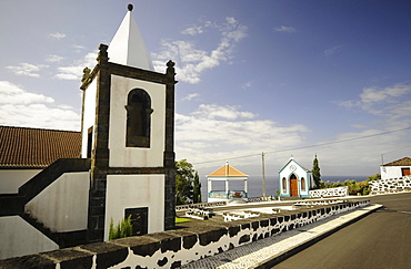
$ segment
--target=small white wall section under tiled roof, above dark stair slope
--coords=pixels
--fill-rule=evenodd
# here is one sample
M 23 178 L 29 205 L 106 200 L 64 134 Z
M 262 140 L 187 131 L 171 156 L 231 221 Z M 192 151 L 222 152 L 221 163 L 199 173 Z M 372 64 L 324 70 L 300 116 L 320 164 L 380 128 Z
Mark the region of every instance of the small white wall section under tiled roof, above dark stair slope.
M 19 193 L 19 187 L 40 172 L 41 169 L 1 169 L 0 194 Z

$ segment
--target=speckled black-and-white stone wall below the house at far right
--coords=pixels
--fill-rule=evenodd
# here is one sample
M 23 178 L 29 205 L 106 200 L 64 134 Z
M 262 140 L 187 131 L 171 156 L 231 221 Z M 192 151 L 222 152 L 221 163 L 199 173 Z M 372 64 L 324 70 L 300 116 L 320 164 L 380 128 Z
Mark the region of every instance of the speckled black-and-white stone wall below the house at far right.
M 369 182 L 371 194 L 387 194 L 411 190 L 411 176 Z

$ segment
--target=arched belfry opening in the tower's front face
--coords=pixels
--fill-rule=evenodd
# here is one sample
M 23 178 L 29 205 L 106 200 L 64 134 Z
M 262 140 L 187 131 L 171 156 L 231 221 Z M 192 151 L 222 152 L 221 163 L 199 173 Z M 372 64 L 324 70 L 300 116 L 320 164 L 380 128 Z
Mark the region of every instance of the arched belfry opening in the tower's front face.
M 127 137 L 128 147 L 150 147 L 151 99 L 141 89 L 134 89 L 127 100 Z

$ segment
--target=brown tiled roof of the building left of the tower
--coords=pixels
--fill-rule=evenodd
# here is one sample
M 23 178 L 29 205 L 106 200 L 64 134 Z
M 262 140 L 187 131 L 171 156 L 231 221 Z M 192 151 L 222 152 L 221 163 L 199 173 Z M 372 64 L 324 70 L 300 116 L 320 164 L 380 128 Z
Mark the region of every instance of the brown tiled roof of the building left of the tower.
M 0 126 L 0 168 L 44 168 L 59 158 L 79 158 L 81 133 Z

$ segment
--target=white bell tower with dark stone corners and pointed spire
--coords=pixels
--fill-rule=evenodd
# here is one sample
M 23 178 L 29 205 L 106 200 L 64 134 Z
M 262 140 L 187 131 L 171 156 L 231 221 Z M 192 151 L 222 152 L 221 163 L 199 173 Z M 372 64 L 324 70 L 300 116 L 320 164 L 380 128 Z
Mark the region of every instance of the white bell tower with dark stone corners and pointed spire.
M 82 157 L 91 158 L 89 241 L 131 217 L 133 235 L 174 226 L 174 63 L 153 70 L 132 6 L 81 90 Z

